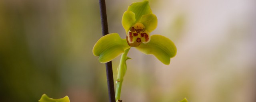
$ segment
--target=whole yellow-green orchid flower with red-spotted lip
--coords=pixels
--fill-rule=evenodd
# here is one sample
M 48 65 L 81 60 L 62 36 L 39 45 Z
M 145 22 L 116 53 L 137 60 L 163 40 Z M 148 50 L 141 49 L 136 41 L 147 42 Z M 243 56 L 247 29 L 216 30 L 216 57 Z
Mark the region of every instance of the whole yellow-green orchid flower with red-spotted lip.
M 135 2 L 128 7 L 122 17 L 122 26 L 126 39 L 121 39 L 118 33 L 110 33 L 94 45 L 93 54 L 99 56 L 100 63 L 115 59 L 130 47 L 146 55 L 154 55 L 165 65 L 169 65 L 170 58 L 176 55 L 176 46 L 170 39 L 162 35 L 150 36 L 150 32 L 157 27 L 157 17 L 152 13 L 148 0 Z

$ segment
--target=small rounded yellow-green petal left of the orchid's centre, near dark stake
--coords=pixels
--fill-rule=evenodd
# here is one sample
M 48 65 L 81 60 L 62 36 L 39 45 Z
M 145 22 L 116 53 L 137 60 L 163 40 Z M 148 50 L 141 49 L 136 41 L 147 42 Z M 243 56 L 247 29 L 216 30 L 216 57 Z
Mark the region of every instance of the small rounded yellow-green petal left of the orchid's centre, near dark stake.
M 124 12 L 122 17 L 122 25 L 126 31 L 126 34 L 129 31 L 130 27 L 133 26 L 134 24 L 135 24 L 134 12 L 131 12 L 131 11 Z

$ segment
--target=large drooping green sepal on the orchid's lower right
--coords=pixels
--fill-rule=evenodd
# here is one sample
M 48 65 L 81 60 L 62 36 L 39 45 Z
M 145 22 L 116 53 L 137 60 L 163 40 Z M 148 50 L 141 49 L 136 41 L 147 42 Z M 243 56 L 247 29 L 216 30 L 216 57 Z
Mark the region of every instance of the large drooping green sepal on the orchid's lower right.
M 149 43 L 142 43 L 135 48 L 146 55 L 154 55 L 165 65 L 170 64 L 170 58 L 174 57 L 177 51 L 174 43 L 162 35 L 152 35 Z

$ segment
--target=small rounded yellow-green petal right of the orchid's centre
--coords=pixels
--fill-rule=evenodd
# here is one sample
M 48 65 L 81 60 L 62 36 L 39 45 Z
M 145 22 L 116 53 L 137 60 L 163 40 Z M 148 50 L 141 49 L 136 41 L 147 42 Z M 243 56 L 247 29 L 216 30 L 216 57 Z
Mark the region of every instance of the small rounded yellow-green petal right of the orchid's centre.
M 143 15 L 140 19 L 148 32 L 153 31 L 157 27 L 157 17 L 154 14 Z

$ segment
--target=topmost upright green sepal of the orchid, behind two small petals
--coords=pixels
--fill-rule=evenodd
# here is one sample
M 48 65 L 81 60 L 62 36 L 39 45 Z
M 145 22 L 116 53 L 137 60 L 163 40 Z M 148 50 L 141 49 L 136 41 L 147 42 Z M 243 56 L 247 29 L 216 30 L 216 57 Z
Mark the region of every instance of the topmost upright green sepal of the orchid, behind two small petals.
M 134 2 L 132 5 L 128 7 L 128 11 L 132 11 L 135 14 L 136 22 L 140 21 L 140 18 L 142 15 L 145 14 L 151 14 L 152 11 L 150 9 L 150 6 L 148 4 L 148 0 L 145 0 L 143 2 Z

